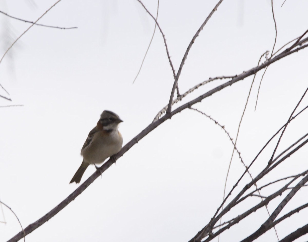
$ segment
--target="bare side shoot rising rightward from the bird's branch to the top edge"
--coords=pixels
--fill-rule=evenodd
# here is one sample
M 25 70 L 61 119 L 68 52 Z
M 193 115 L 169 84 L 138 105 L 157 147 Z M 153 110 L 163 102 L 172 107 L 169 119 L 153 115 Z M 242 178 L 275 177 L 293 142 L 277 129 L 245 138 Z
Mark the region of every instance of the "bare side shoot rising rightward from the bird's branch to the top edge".
M 214 12 L 217 10 L 218 6 L 221 4 L 223 0 L 220 0 L 216 6 L 214 7 L 214 9 L 210 12 L 209 16 L 205 19 L 205 21 L 202 23 L 202 25 L 200 26 L 200 28 L 197 30 L 197 32 L 195 33 L 193 39 L 190 41 L 187 49 L 186 49 L 186 52 L 183 56 L 183 59 L 181 61 L 181 64 L 180 64 L 180 67 L 179 67 L 179 70 L 177 71 L 176 73 L 176 77 L 174 78 L 174 83 L 173 83 L 173 86 L 172 86 L 172 89 L 171 89 L 171 94 L 170 94 L 170 98 L 169 98 L 169 103 L 168 103 L 168 108 L 167 108 L 167 115 L 170 115 L 171 114 L 171 106 L 172 106 L 172 100 L 173 100 L 173 97 L 174 97 L 174 92 L 175 92 L 175 89 L 176 89 L 176 86 L 177 86 L 177 82 L 179 80 L 179 77 L 180 77 L 180 74 L 181 74 L 181 71 L 182 71 L 182 68 L 184 66 L 184 63 L 185 63 L 185 60 L 187 58 L 187 55 L 188 55 L 188 52 L 189 50 L 191 49 L 193 43 L 195 42 L 196 38 L 198 37 L 199 33 L 201 32 L 201 30 L 203 29 L 203 27 L 206 25 L 206 23 L 209 21 L 209 19 L 212 17 L 212 15 L 214 14 Z

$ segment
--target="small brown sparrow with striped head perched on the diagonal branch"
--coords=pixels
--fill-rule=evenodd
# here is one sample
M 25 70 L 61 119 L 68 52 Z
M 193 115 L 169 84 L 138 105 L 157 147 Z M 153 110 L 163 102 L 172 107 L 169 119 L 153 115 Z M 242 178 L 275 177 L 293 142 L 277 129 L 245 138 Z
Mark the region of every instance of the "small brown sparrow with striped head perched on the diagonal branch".
M 114 112 L 103 111 L 99 121 L 90 131 L 87 140 L 82 146 L 80 154 L 83 156 L 83 161 L 70 183 L 74 181 L 79 183 L 90 164 L 100 164 L 121 150 L 123 138 L 118 131 L 118 126 L 121 122 L 123 121 Z

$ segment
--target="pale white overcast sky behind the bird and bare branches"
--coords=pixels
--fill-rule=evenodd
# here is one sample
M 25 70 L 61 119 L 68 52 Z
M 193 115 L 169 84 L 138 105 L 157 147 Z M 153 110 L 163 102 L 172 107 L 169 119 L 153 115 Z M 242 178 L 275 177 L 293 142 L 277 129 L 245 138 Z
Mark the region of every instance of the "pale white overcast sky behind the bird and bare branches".
M 5 0 L 0 10 L 35 21 L 54 2 L 37 0 L 35 7 L 30 0 Z M 157 2 L 143 2 L 156 15 Z M 276 50 L 307 29 L 308 2 L 288 0 L 280 8 L 282 2 L 274 1 Z M 216 3 L 160 1 L 158 21 L 176 71 L 189 41 Z M 0 21 L 2 55 L 29 24 L 4 15 Z M 103 110 L 114 111 L 124 120 L 120 131 L 126 144 L 168 103 L 173 84 L 158 29 L 132 84 L 154 29 L 137 1 L 63 0 L 39 23 L 78 29 L 33 26 L 0 64 L 0 83 L 13 100 L 0 99 L 0 106 L 24 105 L 0 108 L 0 198 L 24 228 L 78 187 L 69 181 L 81 164 L 83 142 Z M 179 79 L 180 92 L 209 77 L 236 75 L 256 66 L 261 54 L 271 51 L 274 37 L 269 0 L 224 1 L 188 55 Z M 237 145 L 247 164 L 287 121 L 307 88 L 307 51 L 268 68 L 254 111 L 261 72 L 257 75 Z M 235 139 L 251 81 L 249 77 L 233 84 L 195 107 L 225 125 Z M 202 87 L 183 101 L 221 83 Z M 6 95 L 3 90 L 0 94 Z M 306 97 L 300 107 L 307 102 Z M 305 115 L 290 125 L 280 151 L 306 134 Z M 253 175 L 267 164 L 273 146 L 253 166 Z M 26 236 L 26 241 L 188 241 L 222 201 L 232 149 L 220 127 L 195 111 L 182 111 L 133 146 L 75 201 Z M 306 170 L 306 150 L 284 162 L 267 181 L 283 177 L 283 172 Z M 234 158 L 227 191 L 244 171 L 237 154 Z M 90 166 L 82 182 L 94 171 Z M 292 205 L 306 203 L 306 192 L 301 189 Z M 270 211 L 274 208 L 275 204 L 269 205 Z M 291 204 L 283 211 L 288 209 Z M 1 242 L 20 231 L 14 215 L 3 210 L 6 224 L 0 223 Z M 239 213 L 234 210 L 224 220 Z M 280 238 L 306 224 L 306 218 L 307 210 L 303 210 L 278 226 Z M 221 241 L 239 241 L 265 220 L 266 210 L 261 209 L 223 233 Z M 277 240 L 273 230 L 261 239 Z

